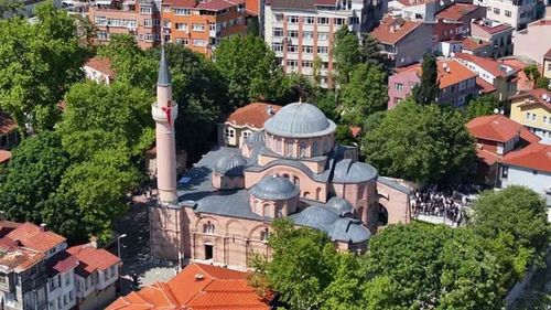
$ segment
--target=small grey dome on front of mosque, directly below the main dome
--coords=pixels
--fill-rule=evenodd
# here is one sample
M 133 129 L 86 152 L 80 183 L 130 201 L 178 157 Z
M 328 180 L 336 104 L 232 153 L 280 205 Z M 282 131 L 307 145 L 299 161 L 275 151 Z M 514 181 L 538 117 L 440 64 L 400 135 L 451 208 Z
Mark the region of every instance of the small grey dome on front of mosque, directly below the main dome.
M 299 194 L 299 188 L 287 178 L 267 175 L 255 184 L 249 192 L 262 200 L 288 200 Z

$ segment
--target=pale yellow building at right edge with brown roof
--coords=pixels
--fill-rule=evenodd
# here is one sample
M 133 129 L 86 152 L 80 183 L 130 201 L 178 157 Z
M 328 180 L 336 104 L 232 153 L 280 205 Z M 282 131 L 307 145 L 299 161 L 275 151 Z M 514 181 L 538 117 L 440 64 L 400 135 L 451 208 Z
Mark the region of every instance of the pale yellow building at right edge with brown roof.
M 551 92 L 538 88 L 511 97 L 510 118 L 534 132 L 542 142 L 551 142 Z

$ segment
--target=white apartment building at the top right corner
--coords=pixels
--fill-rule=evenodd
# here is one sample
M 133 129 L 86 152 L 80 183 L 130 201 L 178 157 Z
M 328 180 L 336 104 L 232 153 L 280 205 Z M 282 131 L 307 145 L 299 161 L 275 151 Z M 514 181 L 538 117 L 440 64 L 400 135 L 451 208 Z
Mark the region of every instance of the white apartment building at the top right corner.
M 474 4 L 487 8 L 486 18 L 525 29 L 536 20 L 536 0 L 474 0 Z

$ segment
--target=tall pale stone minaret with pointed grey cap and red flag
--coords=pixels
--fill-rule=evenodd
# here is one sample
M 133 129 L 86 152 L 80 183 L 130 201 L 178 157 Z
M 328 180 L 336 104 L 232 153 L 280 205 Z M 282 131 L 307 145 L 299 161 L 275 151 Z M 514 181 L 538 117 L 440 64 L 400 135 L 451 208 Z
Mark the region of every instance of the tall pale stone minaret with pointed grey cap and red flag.
M 177 193 L 174 120 L 177 117 L 177 105 L 172 100 L 172 83 L 164 54 L 164 45 L 161 46 L 161 62 L 156 79 L 156 103 L 153 104 L 151 113 L 156 124 L 156 188 L 159 203 L 164 205 L 175 204 Z

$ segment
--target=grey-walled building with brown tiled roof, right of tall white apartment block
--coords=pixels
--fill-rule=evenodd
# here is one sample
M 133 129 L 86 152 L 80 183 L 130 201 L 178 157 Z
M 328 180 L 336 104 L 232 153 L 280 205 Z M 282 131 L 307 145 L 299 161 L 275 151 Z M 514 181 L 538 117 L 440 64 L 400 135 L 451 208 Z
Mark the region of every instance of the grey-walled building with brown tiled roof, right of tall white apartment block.
M 426 52 L 432 52 L 433 25 L 386 17 L 370 35 L 379 42 L 381 53 L 395 67 L 418 63 Z

